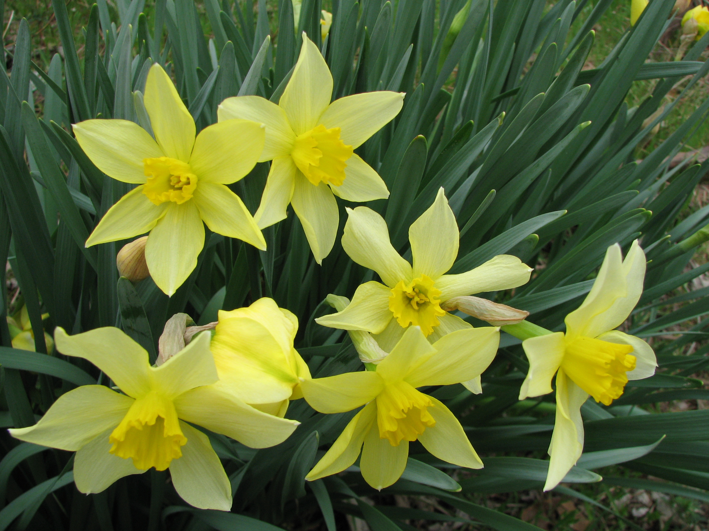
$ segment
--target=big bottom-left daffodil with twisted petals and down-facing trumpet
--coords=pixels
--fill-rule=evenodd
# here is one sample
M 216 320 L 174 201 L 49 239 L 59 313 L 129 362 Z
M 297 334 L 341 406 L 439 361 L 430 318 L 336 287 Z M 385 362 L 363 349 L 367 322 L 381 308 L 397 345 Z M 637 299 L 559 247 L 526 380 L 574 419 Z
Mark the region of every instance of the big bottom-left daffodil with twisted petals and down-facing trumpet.
M 256 448 L 279 444 L 298 426 L 213 385 L 218 376 L 209 333 L 196 336 L 160 367 L 151 367 L 147 352 L 113 327 L 76 336 L 57 328 L 55 341 L 60 352 L 94 363 L 125 394 L 103 385 L 78 387 L 60 396 L 35 426 L 10 433 L 77 452 L 74 481 L 83 493 L 104 491 L 121 477 L 152 467 L 169 468 L 184 501 L 229 510 L 229 479 L 207 436 L 189 423 Z

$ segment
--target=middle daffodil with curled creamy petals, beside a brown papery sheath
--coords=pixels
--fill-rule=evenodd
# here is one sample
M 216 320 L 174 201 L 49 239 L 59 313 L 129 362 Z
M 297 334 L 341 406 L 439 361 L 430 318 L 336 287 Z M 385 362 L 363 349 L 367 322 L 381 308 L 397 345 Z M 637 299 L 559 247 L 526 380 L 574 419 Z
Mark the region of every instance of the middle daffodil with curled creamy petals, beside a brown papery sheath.
M 407 326 L 420 326 L 430 341 L 471 328 L 445 312 L 441 304 L 461 295 L 517 287 L 530 278 L 532 268 L 505 254 L 466 273 L 445 274 L 458 256 L 459 232 L 442 188 L 430 208 L 408 229 L 413 266 L 391 246 L 384 218 L 367 207 L 347 209 L 347 213 L 342 249 L 359 265 L 376 271 L 384 284 L 365 282 L 342 312 L 316 321 L 337 329 L 379 334 L 375 339 L 384 350 L 391 350 Z

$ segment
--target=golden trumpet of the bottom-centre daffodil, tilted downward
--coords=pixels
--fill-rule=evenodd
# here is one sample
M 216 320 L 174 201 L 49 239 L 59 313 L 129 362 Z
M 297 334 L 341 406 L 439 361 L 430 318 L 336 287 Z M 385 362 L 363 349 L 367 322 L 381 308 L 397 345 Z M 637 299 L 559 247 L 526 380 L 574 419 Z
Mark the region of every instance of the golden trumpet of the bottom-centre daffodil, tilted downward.
M 411 384 L 402 381 L 387 385 L 376 397 L 379 437 L 389 439 L 392 446 L 398 446 L 402 439 L 416 440 L 423 430 L 435 426 L 430 407 L 434 406 L 428 396 Z

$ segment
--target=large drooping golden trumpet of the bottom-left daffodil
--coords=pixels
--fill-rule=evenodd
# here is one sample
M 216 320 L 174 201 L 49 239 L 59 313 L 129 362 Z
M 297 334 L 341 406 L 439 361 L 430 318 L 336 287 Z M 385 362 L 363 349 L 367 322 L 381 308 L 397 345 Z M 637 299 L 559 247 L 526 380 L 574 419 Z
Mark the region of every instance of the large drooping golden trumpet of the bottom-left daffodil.
M 113 455 L 133 459 L 135 468 L 164 470 L 172 459 L 182 457 L 187 439 L 182 434 L 172 400 L 149 393 L 133 402 L 125 417 L 108 437 Z

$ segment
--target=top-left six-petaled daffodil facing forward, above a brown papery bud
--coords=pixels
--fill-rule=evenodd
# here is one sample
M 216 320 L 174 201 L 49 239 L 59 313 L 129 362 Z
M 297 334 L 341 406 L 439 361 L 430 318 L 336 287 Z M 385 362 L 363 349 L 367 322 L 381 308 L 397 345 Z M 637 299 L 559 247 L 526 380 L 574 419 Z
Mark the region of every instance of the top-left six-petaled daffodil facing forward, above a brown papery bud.
M 255 166 L 264 130 L 255 122 L 225 120 L 195 138 L 194 120 L 159 64 L 147 75 L 145 108 L 155 139 L 128 120 L 74 125 L 77 141 L 101 171 L 138 184 L 106 212 L 86 246 L 150 232 L 147 268 L 172 296 L 197 264 L 203 222 L 213 232 L 266 249 L 250 212 L 226 186 Z

